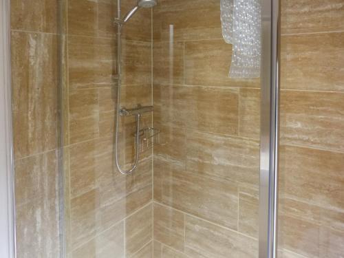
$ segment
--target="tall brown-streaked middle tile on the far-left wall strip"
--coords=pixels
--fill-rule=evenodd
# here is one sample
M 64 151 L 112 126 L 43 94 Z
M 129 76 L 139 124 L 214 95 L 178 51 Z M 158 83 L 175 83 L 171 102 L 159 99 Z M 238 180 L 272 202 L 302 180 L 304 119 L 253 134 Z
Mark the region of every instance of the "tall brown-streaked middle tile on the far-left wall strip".
M 15 158 L 57 147 L 56 41 L 52 34 L 11 34 Z

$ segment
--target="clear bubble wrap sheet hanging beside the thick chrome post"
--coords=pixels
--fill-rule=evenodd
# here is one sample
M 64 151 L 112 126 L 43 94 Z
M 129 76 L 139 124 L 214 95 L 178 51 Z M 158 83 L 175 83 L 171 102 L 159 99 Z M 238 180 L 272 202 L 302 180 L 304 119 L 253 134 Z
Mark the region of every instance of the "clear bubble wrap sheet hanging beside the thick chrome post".
M 221 0 L 222 34 L 233 44 L 230 78 L 257 78 L 261 63 L 260 0 Z

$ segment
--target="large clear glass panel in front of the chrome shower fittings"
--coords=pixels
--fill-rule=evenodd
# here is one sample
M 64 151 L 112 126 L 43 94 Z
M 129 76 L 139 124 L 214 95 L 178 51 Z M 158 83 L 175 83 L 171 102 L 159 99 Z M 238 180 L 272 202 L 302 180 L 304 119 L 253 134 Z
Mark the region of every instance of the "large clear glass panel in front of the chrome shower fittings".
M 63 1 L 66 257 L 258 257 L 260 79 L 220 1 L 117 3 Z

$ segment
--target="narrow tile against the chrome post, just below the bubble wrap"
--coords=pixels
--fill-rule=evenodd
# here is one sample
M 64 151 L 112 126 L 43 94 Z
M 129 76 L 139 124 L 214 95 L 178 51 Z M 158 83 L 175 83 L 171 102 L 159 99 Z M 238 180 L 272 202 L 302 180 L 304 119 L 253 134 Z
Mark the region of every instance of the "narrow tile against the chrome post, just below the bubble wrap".
M 260 136 L 260 90 L 240 88 L 239 136 L 259 139 Z

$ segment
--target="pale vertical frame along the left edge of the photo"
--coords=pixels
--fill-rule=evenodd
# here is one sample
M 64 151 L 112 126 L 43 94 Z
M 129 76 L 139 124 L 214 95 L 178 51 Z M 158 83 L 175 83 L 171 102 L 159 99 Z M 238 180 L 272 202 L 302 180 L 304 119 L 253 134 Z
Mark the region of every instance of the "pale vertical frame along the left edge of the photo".
M 0 1 L 0 257 L 15 257 L 10 0 Z

